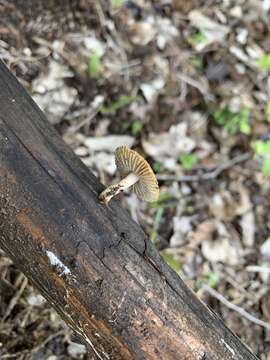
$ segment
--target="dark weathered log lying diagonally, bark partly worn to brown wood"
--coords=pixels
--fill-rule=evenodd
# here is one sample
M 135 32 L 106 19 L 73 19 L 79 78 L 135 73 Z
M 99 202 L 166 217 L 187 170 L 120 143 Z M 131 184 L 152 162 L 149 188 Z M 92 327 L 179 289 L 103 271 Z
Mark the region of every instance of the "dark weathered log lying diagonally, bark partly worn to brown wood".
M 0 246 L 99 359 L 251 360 L 0 63 Z

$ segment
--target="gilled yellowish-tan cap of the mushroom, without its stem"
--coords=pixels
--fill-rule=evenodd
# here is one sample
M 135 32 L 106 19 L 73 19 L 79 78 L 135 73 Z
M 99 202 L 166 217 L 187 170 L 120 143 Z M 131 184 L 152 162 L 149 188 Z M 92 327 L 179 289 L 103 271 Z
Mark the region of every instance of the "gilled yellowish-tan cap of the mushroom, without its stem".
M 156 176 L 148 162 L 136 151 L 119 146 L 115 150 L 115 164 L 122 177 L 131 172 L 139 177 L 139 180 L 131 186 L 131 190 L 142 200 L 157 201 L 159 187 Z

